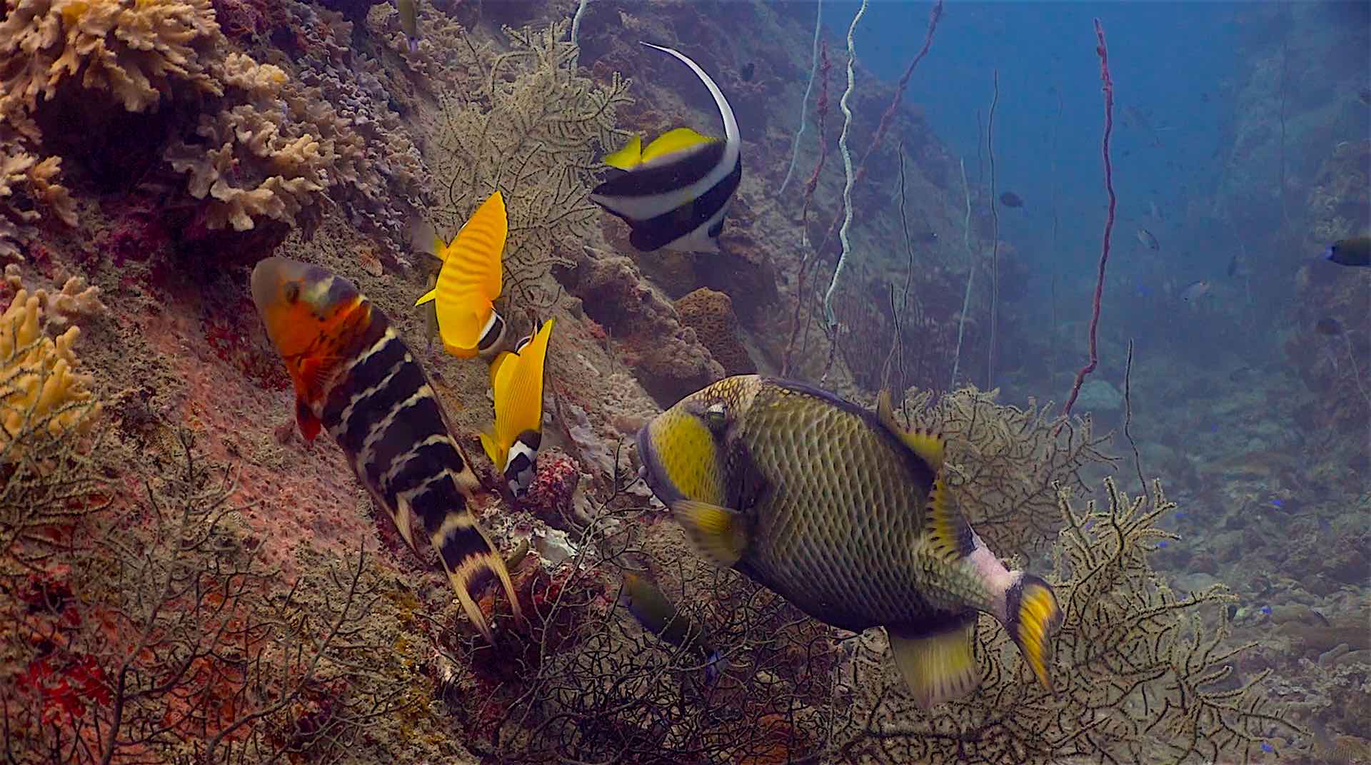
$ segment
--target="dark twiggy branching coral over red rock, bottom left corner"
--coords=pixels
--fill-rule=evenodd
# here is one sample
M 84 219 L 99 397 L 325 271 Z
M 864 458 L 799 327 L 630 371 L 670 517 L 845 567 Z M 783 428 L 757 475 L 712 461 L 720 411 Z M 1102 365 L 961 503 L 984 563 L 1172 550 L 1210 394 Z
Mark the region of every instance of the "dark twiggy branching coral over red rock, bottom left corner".
M 118 517 L 0 596 L 10 762 L 377 761 L 407 702 L 358 554 L 287 579 L 239 525 L 236 485 L 182 433 Z

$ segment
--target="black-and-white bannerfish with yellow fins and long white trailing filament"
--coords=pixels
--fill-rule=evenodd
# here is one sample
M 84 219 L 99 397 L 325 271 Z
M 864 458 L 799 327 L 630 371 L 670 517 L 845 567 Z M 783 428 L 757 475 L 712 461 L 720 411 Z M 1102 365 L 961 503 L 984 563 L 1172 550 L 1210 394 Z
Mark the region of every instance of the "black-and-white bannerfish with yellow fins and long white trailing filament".
M 642 138 L 633 136 L 605 158 L 622 173 L 595 186 L 591 202 L 622 218 L 632 229 L 629 243 L 642 252 L 717 252 L 724 215 L 743 178 L 738 119 L 699 64 L 672 48 L 643 45 L 676 56 L 705 82 L 724 118 L 725 137 L 721 141 L 677 127 L 643 148 Z

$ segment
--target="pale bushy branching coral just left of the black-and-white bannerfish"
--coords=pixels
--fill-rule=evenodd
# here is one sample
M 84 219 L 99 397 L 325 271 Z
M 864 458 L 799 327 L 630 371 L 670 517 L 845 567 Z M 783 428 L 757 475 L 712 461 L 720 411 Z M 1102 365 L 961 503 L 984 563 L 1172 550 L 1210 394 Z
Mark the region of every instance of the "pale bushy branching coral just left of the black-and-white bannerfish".
M 562 40 L 566 22 L 505 33 L 510 51 L 491 62 L 483 81 L 444 99 L 433 143 L 435 175 L 446 191 L 430 212 L 446 240 L 491 192 L 503 192 L 505 273 L 524 289 L 550 266 L 570 266 L 558 251 L 596 219 L 588 197 L 595 159 L 617 148 L 614 114 L 629 103 L 629 82 L 616 74 L 599 86 L 577 74 L 577 49 Z

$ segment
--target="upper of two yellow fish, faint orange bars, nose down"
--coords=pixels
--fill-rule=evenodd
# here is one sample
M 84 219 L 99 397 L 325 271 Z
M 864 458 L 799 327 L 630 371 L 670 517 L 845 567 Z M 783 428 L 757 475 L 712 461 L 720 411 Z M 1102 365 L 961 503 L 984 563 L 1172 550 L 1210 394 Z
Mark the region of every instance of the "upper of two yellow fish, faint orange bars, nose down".
M 476 355 L 481 333 L 495 311 L 507 236 L 505 197 L 495 192 L 444 248 L 437 285 L 415 303 L 437 302 L 439 335 L 446 348 L 457 348 L 457 355 Z

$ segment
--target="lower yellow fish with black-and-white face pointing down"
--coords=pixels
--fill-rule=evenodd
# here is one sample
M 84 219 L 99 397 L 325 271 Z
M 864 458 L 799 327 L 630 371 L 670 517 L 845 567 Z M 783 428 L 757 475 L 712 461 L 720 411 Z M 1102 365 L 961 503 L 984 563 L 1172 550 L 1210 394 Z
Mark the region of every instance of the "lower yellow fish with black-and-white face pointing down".
M 547 319 L 532 339 L 514 352 L 500 354 L 491 365 L 495 393 L 495 432 L 481 444 L 505 472 L 510 491 L 522 496 L 533 478 L 543 430 L 543 370 L 554 319 Z

